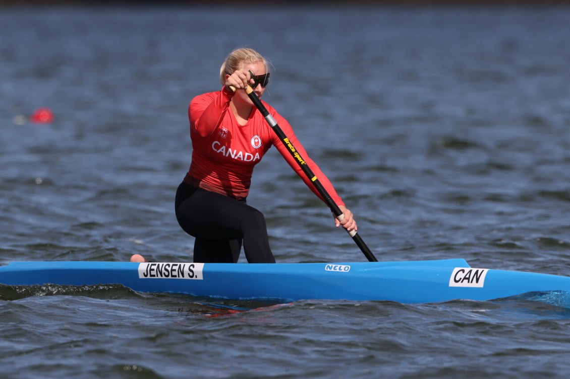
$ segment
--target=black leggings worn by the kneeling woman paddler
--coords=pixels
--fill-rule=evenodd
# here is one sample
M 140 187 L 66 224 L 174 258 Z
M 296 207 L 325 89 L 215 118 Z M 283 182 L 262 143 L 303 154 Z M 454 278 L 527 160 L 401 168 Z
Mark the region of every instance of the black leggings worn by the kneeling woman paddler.
M 232 199 L 182 182 L 176 219 L 194 241 L 194 262 L 237 262 L 242 248 L 249 263 L 275 263 L 263 213 Z

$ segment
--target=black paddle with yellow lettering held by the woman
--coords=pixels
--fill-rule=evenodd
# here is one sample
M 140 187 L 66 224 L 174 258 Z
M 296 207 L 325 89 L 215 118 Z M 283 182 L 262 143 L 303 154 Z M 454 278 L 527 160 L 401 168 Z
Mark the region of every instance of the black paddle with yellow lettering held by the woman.
M 254 75 L 254 73 L 251 71 L 250 71 L 250 74 L 252 76 Z M 235 88 L 231 87 L 231 89 L 235 92 Z M 299 164 L 299 167 L 303 170 L 305 175 L 307 175 L 307 178 L 309 178 L 311 180 L 311 182 L 313 182 L 313 185 L 315 186 L 316 190 L 323 197 L 323 199 L 324 199 L 325 203 L 327 203 L 328 207 L 331 208 L 333 215 L 335 215 L 337 220 L 342 221 L 344 219 L 343 211 L 341 211 L 339 206 L 336 205 L 336 203 L 332 200 L 332 198 L 328 194 L 327 190 L 325 190 L 325 188 L 323 187 L 323 184 L 320 183 L 319 179 L 317 179 L 316 175 L 312 172 L 311 168 L 305 162 L 303 157 L 299 155 L 298 151 L 295 149 L 295 146 L 293 146 L 291 141 L 289 141 L 289 139 L 287 138 L 287 135 L 285 135 L 285 133 L 283 133 L 283 130 L 281 129 L 281 127 L 278 125 L 278 123 L 275 121 L 275 119 L 271 116 L 271 114 L 269 114 L 267 108 L 265 108 L 265 106 L 263 105 L 261 100 L 259 100 L 259 97 L 257 96 L 257 94 L 255 94 L 253 88 L 251 88 L 251 85 L 247 85 L 247 88 L 245 89 L 245 91 L 247 93 L 247 96 L 249 96 L 251 101 L 253 101 L 255 108 L 259 109 L 259 112 L 261 112 L 261 114 L 263 115 L 263 117 L 265 118 L 265 120 L 267 121 L 269 126 L 271 126 L 271 129 L 273 129 L 273 131 L 275 132 L 277 137 L 279 137 L 281 142 L 283 142 L 283 145 L 288 147 L 289 153 L 291 153 L 293 158 L 295 158 L 295 160 Z M 348 232 L 348 230 L 347 230 L 347 232 Z M 352 230 L 351 232 L 348 232 L 348 234 L 356 242 L 356 245 L 358 245 L 360 250 L 363 252 L 364 256 L 368 258 L 369 262 L 378 262 L 378 259 L 376 259 L 376 257 L 374 257 L 374 254 L 370 251 L 370 249 L 364 243 L 363 239 L 359 236 L 359 234 L 356 232 L 356 230 Z

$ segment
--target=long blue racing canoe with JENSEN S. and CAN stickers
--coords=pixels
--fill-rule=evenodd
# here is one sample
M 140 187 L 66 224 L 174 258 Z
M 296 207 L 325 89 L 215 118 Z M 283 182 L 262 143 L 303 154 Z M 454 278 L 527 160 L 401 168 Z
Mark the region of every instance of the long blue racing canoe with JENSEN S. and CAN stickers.
M 344 263 L 11 262 L 0 284 L 110 285 L 226 299 L 433 303 L 570 292 L 570 277 L 480 269 L 465 259 Z

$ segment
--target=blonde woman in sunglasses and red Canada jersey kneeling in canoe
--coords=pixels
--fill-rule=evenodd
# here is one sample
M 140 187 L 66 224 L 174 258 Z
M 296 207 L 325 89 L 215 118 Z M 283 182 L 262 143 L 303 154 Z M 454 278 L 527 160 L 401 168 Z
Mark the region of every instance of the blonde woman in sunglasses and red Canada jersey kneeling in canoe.
M 250 77 L 250 71 L 254 77 Z M 271 145 L 320 197 L 244 90 L 251 85 L 261 98 L 269 76 L 269 65 L 263 56 L 255 50 L 239 48 L 222 64 L 223 88 L 201 94 L 190 102 L 192 163 L 176 192 L 175 207 L 182 229 L 196 238 L 194 262 L 237 262 L 242 242 L 247 262 L 275 262 L 263 214 L 246 204 L 253 168 Z M 343 221 L 335 219 L 336 226 L 356 230 L 352 212 L 308 157 L 287 120 L 264 105 L 344 213 Z M 143 259 L 139 257 L 133 256 L 135 261 Z

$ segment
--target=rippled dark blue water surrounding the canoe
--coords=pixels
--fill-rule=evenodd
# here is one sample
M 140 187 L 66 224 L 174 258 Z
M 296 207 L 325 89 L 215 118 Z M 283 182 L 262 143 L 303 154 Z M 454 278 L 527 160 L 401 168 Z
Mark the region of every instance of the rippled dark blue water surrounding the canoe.
M 251 46 L 380 260 L 569 274 L 570 9 L 0 10 L 0 261 L 188 261 L 186 109 Z M 49 125 L 23 121 L 36 108 Z M 273 149 L 249 203 L 278 262 L 364 261 Z M 243 254 L 242 254 L 243 255 Z M 242 256 L 243 261 L 243 256 Z M 539 295 L 537 295 L 539 296 Z M 570 311 L 2 287 L 2 378 L 566 377 Z

